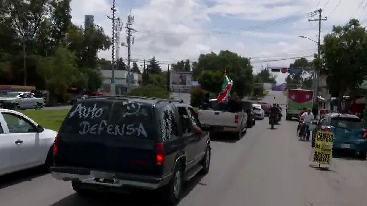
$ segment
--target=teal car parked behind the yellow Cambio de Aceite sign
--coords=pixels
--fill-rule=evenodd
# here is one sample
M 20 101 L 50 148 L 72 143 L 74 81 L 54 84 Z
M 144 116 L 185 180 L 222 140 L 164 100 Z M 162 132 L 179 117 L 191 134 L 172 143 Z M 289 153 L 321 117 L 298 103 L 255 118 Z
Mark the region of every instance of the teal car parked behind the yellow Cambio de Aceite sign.
M 319 128 L 334 133 L 333 149 L 353 150 L 361 158 L 366 158 L 367 131 L 359 117 L 329 113 L 320 120 Z

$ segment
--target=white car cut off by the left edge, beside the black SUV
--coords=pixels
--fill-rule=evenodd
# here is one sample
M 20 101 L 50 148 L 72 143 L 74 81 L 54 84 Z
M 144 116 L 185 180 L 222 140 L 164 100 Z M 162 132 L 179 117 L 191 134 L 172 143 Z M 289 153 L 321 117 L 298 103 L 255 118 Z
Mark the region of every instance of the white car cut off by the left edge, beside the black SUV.
M 57 132 L 10 109 L 0 109 L 0 124 L 0 175 L 52 163 Z

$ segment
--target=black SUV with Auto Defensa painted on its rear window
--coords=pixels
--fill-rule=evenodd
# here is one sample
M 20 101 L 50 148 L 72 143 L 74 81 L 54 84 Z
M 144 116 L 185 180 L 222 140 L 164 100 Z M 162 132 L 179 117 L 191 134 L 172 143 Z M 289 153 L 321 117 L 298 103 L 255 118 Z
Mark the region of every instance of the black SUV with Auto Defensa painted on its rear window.
M 204 130 L 204 128 L 203 128 Z M 54 145 L 52 176 L 92 190 L 161 190 L 178 202 L 182 183 L 207 173 L 210 138 L 181 101 L 133 96 L 90 97 L 70 109 Z

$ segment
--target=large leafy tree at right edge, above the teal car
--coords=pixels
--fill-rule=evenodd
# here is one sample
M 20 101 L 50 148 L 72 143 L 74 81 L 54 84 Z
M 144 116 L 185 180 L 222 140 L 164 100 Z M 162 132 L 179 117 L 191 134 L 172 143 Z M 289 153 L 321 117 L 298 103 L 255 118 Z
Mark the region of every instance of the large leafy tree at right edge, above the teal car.
M 321 45 L 321 74 L 327 74 L 331 95 L 342 98 L 367 76 L 367 33 L 357 19 L 344 26 L 333 26 Z

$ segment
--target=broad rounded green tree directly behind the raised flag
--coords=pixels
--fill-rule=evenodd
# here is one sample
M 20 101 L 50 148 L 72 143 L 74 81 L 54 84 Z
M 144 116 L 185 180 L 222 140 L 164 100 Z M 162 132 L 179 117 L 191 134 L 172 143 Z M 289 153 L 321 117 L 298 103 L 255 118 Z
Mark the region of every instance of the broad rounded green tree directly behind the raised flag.
M 203 89 L 218 94 L 223 83 L 224 71 L 233 80 L 232 92 L 237 92 L 239 96 L 251 93 L 254 75 L 250 60 L 228 50 L 221 51 L 218 55 L 214 52 L 201 54 L 199 62 L 195 64 L 193 77 L 199 81 L 201 86 L 203 83 L 204 85 L 212 84 L 212 86 L 204 86 Z

